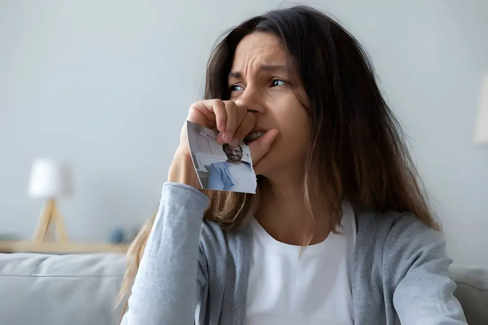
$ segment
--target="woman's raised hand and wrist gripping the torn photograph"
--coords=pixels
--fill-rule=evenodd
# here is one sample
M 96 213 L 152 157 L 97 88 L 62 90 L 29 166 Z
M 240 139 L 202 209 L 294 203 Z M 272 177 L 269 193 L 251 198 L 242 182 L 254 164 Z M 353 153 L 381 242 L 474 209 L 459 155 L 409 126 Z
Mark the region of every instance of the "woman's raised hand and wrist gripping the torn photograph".
M 256 124 L 256 117 L 246 107 L 232 101 L 206 100 L 190 106 L 187 120 L 218 131 L 217 142 L 239 145 Z M 251 143 L 250 151 L 253 163 L 257 163 L 269 150 L 276 138 L 277 130 L 268 131 L 262 138 Z M 180 135 L 180 144 L 169 168 L 168 181 L 183 183 L 200 188 L 195 168 L 188 147 L 186 122 Z

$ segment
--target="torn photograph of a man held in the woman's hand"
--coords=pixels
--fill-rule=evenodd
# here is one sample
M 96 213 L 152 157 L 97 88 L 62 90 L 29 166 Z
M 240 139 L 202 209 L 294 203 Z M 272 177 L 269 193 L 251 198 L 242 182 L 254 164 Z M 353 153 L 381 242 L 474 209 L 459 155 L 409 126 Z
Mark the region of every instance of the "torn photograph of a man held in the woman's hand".
M 256 193 L 256 175 L 249 147 L 231 147 L 217 142 L 218 133 L 186 121 L 188 146 L 202 188 L 240 193 Z

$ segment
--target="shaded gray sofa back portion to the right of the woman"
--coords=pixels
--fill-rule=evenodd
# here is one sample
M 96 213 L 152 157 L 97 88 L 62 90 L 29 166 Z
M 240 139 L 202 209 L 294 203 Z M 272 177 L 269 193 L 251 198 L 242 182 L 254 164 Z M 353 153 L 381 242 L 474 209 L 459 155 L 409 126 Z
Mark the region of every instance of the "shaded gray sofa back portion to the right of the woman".
M 463 306 L 469 325 L 488 324 L 488 269 L 451 265 L 449 277 L 456 282 L 454 295 Z

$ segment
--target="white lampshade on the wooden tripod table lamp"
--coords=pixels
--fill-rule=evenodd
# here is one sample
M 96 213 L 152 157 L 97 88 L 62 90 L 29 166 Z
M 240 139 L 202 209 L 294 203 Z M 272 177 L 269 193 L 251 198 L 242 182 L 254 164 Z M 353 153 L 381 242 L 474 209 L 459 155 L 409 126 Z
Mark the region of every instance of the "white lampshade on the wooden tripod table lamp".
M 72 194 L 72 174 L 67 165 L 37 159 L 32 164 L 29 195 L 35 198 L 56 199 Z

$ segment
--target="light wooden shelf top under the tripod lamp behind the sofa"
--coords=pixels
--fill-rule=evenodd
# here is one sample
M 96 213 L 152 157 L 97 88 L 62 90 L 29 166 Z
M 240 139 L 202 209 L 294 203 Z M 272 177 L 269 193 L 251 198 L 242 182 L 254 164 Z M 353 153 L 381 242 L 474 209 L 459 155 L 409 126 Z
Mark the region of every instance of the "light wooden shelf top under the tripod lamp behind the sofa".
M 127 253 L 129 244 L 0 241 L 0 253 Z

